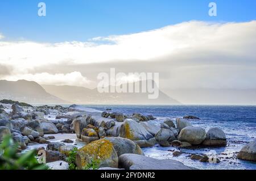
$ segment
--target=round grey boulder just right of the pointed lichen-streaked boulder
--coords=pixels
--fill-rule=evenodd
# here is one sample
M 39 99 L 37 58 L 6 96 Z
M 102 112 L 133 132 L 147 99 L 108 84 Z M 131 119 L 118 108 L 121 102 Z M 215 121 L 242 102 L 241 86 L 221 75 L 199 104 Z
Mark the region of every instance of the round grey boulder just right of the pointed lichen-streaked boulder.
M 155 140 L 159 142 L 160 145 L 169 146 L 170 144 L 167 142 L 176 140 L 176 137 L 174 136 L 174 133 L 171 131 L 171 129 L 162 128 L 158 133 L 156 133 Z

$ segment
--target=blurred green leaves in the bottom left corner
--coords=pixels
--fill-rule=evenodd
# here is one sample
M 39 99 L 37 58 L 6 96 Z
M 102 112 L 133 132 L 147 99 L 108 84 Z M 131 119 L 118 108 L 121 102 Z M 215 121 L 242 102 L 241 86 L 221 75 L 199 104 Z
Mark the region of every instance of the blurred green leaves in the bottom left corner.
M 18 144 L 7 136 L 0 145 L 0 170 L 47 170 L 48 167 L 38 163 L 35 156 L 36 150 L 19 154 Z

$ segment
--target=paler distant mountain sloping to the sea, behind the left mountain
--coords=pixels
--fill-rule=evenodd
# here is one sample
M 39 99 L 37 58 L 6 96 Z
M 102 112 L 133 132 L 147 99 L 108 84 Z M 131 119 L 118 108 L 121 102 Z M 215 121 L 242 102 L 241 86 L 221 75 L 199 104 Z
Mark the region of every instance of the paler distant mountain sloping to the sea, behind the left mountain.
M 148 99 L 147 93 L 100 93 L 97 89 L 77 86 L 42 85 L 42 87 L 49 94 L 76 104 L 180 104 L 160 90 L 158 99 Z

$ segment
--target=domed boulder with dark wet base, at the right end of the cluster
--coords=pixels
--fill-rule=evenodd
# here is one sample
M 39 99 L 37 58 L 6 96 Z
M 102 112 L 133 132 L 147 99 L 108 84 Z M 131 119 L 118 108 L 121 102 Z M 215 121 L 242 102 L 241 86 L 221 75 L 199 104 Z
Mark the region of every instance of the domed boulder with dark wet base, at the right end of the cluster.
M 210 128 L 207 132 L 203 145 L 224 146 L 226 145 L 226 135 L 220 128 Z

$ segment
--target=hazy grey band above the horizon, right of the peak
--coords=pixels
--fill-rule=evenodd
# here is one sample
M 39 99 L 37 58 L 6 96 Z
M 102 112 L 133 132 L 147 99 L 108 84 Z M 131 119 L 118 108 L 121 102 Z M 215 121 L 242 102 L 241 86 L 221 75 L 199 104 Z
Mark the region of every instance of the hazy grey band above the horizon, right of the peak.
M 176 89 L 165 92 L 183 104 L 256 105 L 256 89 Z

